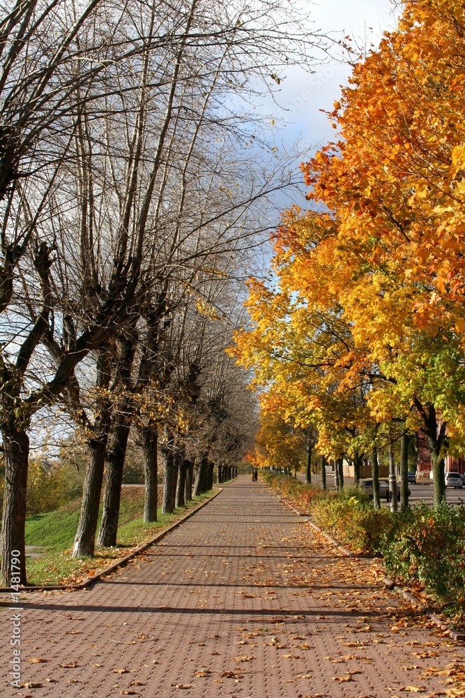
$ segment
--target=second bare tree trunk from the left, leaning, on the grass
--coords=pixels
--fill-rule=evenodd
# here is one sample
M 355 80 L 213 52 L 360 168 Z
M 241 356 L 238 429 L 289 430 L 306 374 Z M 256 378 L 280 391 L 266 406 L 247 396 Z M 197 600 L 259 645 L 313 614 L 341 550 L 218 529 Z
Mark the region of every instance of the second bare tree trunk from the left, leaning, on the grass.
M 97 387 L 106 388 L 110 379 L 110 357 L 107 347 L 100 349 L 97 362 Z M 73 547 L 73 558 L 93 556 L 96 547 L 96 530 L 100 494 L 102 493 L 103 469 L 110 423 L 107 397 L 97 399 L 97 417 L 93 426 L 93 438 L 89 439 L 88 461 L 82 491 L 81 514 Z

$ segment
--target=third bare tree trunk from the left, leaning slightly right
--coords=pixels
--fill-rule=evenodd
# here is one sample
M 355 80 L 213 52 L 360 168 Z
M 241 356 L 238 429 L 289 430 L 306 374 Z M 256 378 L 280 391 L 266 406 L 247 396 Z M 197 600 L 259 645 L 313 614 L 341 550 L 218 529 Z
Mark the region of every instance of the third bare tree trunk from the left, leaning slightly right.
M 98 545 L 116 545 L 118 532 L 119 505 L 121 501 L 121 483 L 128 446 L 130 425 L 124 414 L 118 415 L 109 432 L 109 447 L 105 466 L 105 491 L 103 493 L 103 512 Z

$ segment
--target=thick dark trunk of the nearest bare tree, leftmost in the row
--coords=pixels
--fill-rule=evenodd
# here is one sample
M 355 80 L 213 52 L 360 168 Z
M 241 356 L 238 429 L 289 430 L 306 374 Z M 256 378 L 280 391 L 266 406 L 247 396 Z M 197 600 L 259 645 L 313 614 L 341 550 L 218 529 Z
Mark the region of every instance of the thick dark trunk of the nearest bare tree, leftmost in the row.
M 2 426 L 5 490 L 1 523 L 1 580 L 3 586 L 26 585 L 24 525 L 26 521 L 29 437 L 14 419 Z M 15 567 L 13 568 L 13 559 Z

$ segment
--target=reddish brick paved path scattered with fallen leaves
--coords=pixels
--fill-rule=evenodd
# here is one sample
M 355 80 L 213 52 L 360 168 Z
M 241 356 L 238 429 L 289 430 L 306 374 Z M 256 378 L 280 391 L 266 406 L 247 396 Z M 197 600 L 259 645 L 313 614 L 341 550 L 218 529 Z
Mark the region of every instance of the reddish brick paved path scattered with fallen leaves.
M 376 562 L 345 558 L 241 476 L 90 591 L 27 597 L 22 681 L 38 687 L 8 685 L 2 609 L 0 693 L 377 698 L 408 696 L 407 686 L 445 695 L 444 679 L 422 671 L 464 662 L 463 644 L 440 637 L 380 577 Z

